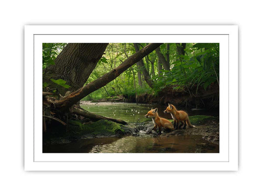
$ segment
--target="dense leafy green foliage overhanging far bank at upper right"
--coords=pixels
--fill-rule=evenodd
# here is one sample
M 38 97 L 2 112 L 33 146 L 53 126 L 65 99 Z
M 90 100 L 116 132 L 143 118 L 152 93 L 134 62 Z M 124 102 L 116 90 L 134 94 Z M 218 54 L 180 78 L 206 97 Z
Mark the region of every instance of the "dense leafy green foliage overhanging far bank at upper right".
M 171 71 L 162 70 L 163 74 L 155 77 L 156 92 L 174 86 L 174 89 L 187 91 L 196 89 L 197 93 L 199 87 L 206 90 L 214 82 L 219 84 L 219 44 L 199 43 L 187 51 L 191 54 L 176 55 Z

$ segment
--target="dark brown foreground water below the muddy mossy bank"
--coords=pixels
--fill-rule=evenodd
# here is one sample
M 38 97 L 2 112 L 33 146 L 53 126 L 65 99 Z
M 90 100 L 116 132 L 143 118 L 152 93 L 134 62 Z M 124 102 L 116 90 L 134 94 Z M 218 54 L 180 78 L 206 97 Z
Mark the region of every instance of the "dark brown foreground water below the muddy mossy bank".
M 171 137 L 126 136 L 123 138 L 81 139 L 68 144 L 44 146 L 43 152 L 67 153 L 194 153 L 219 152 L 219 146 L 202 139 L 200 135 L 184 135 Z

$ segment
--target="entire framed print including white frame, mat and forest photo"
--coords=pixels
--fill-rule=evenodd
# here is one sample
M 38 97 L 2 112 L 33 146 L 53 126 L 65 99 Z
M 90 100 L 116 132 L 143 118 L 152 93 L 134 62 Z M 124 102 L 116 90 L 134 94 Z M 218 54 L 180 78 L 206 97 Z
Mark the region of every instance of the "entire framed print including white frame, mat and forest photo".
M 236 171 L 235 25 L 26 25 L 26 171 Z

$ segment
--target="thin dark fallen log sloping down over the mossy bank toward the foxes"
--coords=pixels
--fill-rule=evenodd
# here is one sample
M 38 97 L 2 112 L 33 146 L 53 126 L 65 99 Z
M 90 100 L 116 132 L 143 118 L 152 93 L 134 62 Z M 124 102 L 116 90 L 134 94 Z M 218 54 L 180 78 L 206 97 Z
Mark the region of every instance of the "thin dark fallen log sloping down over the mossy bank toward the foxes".
M 86 117 L 86 118 L 88 118 L 90 120 L 95 120 L 95 121 L 108 120 L 108 121 L 113 121 L 113 122 L 119 123 L 119 124 L 127 124 L 125 121 L 118 120 L 118 119 L 112 119 L 112 118 L 109 118 L 109 117 L 100 116 L 98 114 L 94 114 L 94 113 L 88 112 L 87 110 L 79 109 L 79 108 L 76 108 L 76 107 L 73 107 L 71 111 L 74 114 Z

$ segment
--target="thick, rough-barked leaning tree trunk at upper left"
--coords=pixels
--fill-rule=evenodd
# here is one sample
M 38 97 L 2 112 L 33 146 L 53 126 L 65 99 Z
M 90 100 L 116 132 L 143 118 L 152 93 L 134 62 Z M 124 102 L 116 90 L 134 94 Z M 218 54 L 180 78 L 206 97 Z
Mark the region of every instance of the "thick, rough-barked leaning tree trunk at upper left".
M 68 90 L 72 92 L 83 87 L 107 45 L 107 43 L 68 44 L 56 58 L 55 65 L 47 69 L 43 82 L 50 83 L 54 87 L 51 78 L 65 80 L 71 88 L 58 86 L 58 93 L 61 95 L 65 95 Z

